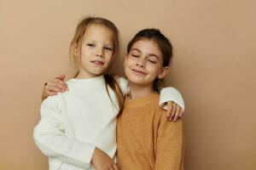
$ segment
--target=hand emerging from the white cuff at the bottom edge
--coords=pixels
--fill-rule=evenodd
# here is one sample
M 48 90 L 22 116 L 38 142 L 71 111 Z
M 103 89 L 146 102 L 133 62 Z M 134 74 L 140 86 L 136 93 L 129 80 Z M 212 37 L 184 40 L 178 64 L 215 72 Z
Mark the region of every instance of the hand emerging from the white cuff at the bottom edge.
M 93 152 L 91 163 L 96 167 L 96 170 L 118 170 L 111 157 L 98 148 Z

